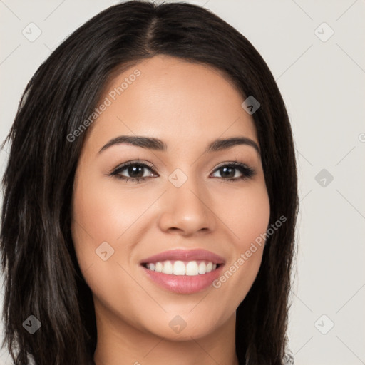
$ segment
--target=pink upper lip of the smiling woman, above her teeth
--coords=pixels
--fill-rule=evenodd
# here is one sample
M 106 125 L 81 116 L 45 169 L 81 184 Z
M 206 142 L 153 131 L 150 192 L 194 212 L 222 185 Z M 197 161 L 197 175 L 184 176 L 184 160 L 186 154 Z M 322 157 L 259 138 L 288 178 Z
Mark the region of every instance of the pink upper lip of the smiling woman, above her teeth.
M 163 262 L 167 260 L 180 260 L 180 261 L 196 261 L 205 260 L 212 262 L 212 264 L 224 264 L 225 259 L 213 252 L 195 249 L 195 250 L 169 250 L 161 252 L 157 255 L 147 257 L 140 261 L 140 264 L 148 264 L 149 262 Z

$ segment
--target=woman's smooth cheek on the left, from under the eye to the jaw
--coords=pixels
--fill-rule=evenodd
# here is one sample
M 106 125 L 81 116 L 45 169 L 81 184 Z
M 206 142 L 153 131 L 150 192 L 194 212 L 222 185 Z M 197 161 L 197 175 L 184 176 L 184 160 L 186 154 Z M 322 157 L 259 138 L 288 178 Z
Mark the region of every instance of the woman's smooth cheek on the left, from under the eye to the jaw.
M 138 230 L 138 218 L 155 200 L 154 196 L 120 189 L 93 171 L 79 170 L 73 190 L 71 232 L 83 277 L 97 296 L 133 292 L 133 282 L 123 267 L 128 266 Z M 115 280 L 118 278 L 118 280 Z

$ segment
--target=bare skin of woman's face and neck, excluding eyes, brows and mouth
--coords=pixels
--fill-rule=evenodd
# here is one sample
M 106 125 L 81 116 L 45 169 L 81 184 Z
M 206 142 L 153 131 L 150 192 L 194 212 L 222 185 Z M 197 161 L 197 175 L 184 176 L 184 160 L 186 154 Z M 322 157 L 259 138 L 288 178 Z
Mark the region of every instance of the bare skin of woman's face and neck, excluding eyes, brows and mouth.
M 103 100 L 135 71 L 141 72 L 89 127 L 73 187 L 72 235 L 78 262 L 93 292 L 98 342 L 96 365 L 237 365 L 235 313 L 255 280 L 262 247 L 220 288 L 176 294 L 147 277 L 140 260 L 172 249 L 202 248 L 225 258 L 227 269 L 269 223 L 269 197 L 259 153 L 250 145 L 204 153 L 217 138 L 255 141 L 252 116 L 228 78 L 209 66 L 155 56 L 108 83 Z M 168 150 L 125 143 L 98 151 L 119 135 L 159 138 Z M 108 173 L 140 159 L 140 183 Z M 227 181 L 223 163 L 255 170 L 246 180 Z M 179 168 L 181 187 L 168 177 Z M 129 170 L 130 172 L 130 170 Z M 120 173 L 126 177 L 128 168 Z M 238 178 L 240 170 L 230 177 Z M 114 253 L 96 255 L 101 242 Z M 175 333 L 169 322 L 186 322 Z

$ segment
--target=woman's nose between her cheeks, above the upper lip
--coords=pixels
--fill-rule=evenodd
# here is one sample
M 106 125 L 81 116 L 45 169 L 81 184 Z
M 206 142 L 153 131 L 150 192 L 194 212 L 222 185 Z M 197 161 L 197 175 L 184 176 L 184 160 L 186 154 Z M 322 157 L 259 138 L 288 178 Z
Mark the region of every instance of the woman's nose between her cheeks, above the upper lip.
M 212 232 L 216 220 L 207 188 L 190 177 L 180 187 L 170 181 L 167 184 L 168 191 L 161 202 L 160 229 L 183 236 Z

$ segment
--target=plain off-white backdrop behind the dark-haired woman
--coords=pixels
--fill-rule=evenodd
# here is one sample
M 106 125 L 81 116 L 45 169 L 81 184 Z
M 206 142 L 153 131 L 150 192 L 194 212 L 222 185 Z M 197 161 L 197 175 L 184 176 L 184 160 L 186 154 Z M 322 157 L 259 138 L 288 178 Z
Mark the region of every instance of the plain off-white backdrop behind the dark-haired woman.
M 78 26 L 117 2 L 0 0 L 1 141 L 38 66 Z M 288 332 L 294 364 L 365 364 L 365 1 L 187 2 L 249 39 L 287 105 L 300 196 Z M 2 150 L 1 176 L 6 158 Z M 0 364 L 11 364 L 5 349 Z

